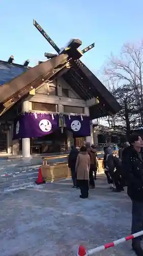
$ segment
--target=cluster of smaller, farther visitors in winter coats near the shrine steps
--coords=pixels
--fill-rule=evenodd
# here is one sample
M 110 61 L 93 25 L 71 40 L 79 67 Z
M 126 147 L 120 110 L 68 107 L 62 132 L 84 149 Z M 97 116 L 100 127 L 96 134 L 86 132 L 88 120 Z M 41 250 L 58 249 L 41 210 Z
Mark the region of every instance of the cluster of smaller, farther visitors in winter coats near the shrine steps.
M 104 172 L 112 191 L 124 190 L 122 181 L 122 166 L 120 158 L 113 157 L 111 148 L 104 148 Z M 95 189 L 97 174 L 97 152 L 90 142 L 80 148 L 80 152 L 72 146 L 68 158 L 68 166 L 71 169 L 73 188 L 80 188 L 80 198 L 88 198 L 88 191 Z

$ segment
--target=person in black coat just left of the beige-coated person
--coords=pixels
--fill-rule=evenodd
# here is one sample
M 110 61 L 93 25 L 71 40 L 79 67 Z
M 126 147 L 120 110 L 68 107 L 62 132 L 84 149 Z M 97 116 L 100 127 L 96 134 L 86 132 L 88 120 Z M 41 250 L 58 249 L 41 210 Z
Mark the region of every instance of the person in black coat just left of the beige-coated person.
M 71 152 L 69 154 L 68 158 L 68 166 L 71 169 L 71 176 L 72 176 L 72 181 L 73 181 L 73 188 L 77 188 L 77 182 L 76 182 L 76 173 L 75 173 L 75 165 L 76 165 L 76 159 L 78 156 L 78 150 L 76 149 L 75 146 L 71 146 Z

